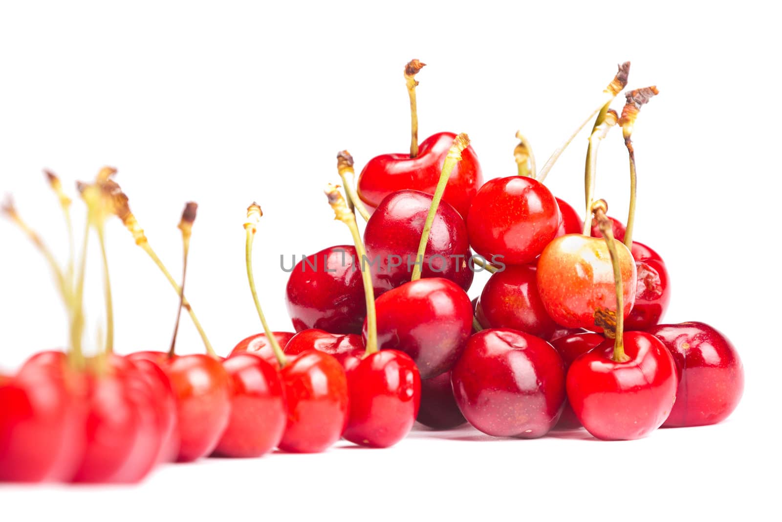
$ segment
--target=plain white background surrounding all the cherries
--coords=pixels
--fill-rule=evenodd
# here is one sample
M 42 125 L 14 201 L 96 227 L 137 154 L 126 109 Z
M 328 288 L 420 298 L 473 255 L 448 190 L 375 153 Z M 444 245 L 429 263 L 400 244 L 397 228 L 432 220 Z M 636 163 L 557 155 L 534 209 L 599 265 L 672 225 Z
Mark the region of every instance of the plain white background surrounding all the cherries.
M 135 488 L 0 488 L 3 520 L 138 519 L 229 513 L 264 520 L 481 517 L 602 520 L 748 516 L 769 509 L 780 455 L 778 13 L 772 2 L 18 2 L 0 9 L 0 193 L 65 259 L 63 223 L 41 168 L 70 187 L 105 164 L 152 246 L 181 269 L 176 229 L 200 204 L 188 297 L 217 351 L 260 330 L 244 272 L 245 209 L 264 207 L 256 277 L 274 329 L 290 329 L 280 254 L 346 243 L 321 187 L 335 153 L 361 167 L 404 152 L 402 68 L 418 75 L 421 139 L 466 131 L 485 178 L 512 175 L 517 129 L 542 165 L 586 116 L 615 64 L 656 84 L 634 141 L 636 238 L 667 261 L 667 322 L 722 329 L 747 384 L 726 423 L 600 443 L 581 432 L 517 441 L 474 430 L 415 431 L 388 450 L 270 455 L 166 466 Z M 617 102 L 616 108 L 621 108 Z M 626 151 L 601 148 L 597 196 L 626 218 Z M 585 136 L 547 180 L 581 200 Z M 77 221 L 81 209 L 76 204 Z M 582 212 L 583 214 L 583 212 Z M 0 362 L 62 346 L 66 322 L 45 263 L 0 221 Z M 95 243 L 93 243 L 93 246 Z M 102 322 L 91 251 L 87 344 Z M 174 292 L 118 221 L 109 256 L 120 352 L 163 349 Z M 476 278 L 471 296 L 485 277 Z M 199 351 L 185 322 L 181 351 Z M 216 520 L 216 519 L 215 519 Z

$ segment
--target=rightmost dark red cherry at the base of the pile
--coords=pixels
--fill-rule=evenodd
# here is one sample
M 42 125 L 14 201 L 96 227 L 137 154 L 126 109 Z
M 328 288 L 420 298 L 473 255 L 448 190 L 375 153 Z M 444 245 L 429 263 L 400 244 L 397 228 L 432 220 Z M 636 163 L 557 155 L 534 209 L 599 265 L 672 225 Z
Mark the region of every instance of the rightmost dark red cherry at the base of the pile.
M 673 355 L 678 391 L 664 427 L 716 424 L 736 409 L 744 392 L 744 365 L 719 330 L 703 322 L 648 330 Z

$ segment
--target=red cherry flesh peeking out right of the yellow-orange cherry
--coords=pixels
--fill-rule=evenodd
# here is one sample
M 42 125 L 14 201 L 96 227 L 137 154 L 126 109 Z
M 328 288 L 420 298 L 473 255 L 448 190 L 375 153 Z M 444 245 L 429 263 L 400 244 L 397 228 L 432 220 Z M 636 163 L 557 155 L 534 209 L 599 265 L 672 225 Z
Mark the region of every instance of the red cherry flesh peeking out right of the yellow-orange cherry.
M 645 330 L 660 322 L 668 309 L 671 301 L 670 279 L 665 262 L 655 250 L 633 241 L 630 251 L 636 261 L 636 301 L 625 319 L 625 329 Z

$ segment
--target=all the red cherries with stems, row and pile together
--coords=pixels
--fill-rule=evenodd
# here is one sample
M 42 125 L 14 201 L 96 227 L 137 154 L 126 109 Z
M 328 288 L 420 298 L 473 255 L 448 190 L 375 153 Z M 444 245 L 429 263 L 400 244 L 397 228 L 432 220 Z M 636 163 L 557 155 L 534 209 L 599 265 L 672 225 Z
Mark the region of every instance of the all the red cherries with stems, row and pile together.
M 662 258 L 633 241 L 636 164 L 631 135 L 655 87 L 626 92 L 610 109 L 630 63 L 592 113 L 538 171 L 517 135 L 518 175 L 483 183 L 467 135 L 443 132 L 418 145 L 415 88 L 424 64 L 404 77 L 411 101 L 411 153 L 371 159 L 354 185 L 353 158 L 339 153 L 339 185 L 325 193 L 353 244 L 295 265 L 286 304 L 296 332 L 272 332 L 253 277 L 253 239 L 262 212 L 247 211 L 246 265 L 263 333 L 228 357 L 211 346 L 185 297 L 197 206 L 179 224 L 181 282 L 160 260 L 127 196 L 104 168 L 77 189 L 88 223 L 76 251 L 70 206 L 55 175 L 70 232 L 60 266 L 9 200 L 3 213 L 45 255 L 70 324 L 64 351 L 43 351 L 13 376 L 0 375 L 0 481 L 140 481 L 156 464 L 210 455 L 257 457 L 322 452 L 345 438 L 396 444 L 414 422 L 434 429 L 470 423 L 498 437 L 542 437 L 585 427 L 605 440 L 644 437 L 660 426 L 718 423 L 744 386 L 730 341 L 702 322 L 658 324 L 670 300 Z M 587 220 L 543 185 L 554 162 L 590 121 L 585 173 Z M 630 157 L 630 215 L 608 218 L 594 200 L 597 149 L 622 128 Z M 357 214 L 366 222 L 363 238 Z M 178 293 L 168 351 L 113 351 L 106 222 L 117 216 Z M 88 239 L 98 239 L 106 330 L 93 355 L 82 350 Z M 475 254 L 473 254 L 473 252 Z M 492 272 L 479 299 L 474 272 Z M 206 353 L 177 355 L 181 311 Z M 621 312 L 619 312 L 621 310 Z

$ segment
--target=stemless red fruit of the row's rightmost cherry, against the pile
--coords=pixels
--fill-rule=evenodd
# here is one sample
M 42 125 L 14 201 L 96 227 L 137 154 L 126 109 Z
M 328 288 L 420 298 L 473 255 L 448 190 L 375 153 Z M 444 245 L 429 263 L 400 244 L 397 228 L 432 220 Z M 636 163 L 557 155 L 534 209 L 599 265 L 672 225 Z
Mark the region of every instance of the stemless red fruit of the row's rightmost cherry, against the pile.
M 421 376 L 413 359 L 396 350 L 362 358 L 347 371 L 350 418 L 343 437 L 389 448 L 410 433 L 421 404 Z

